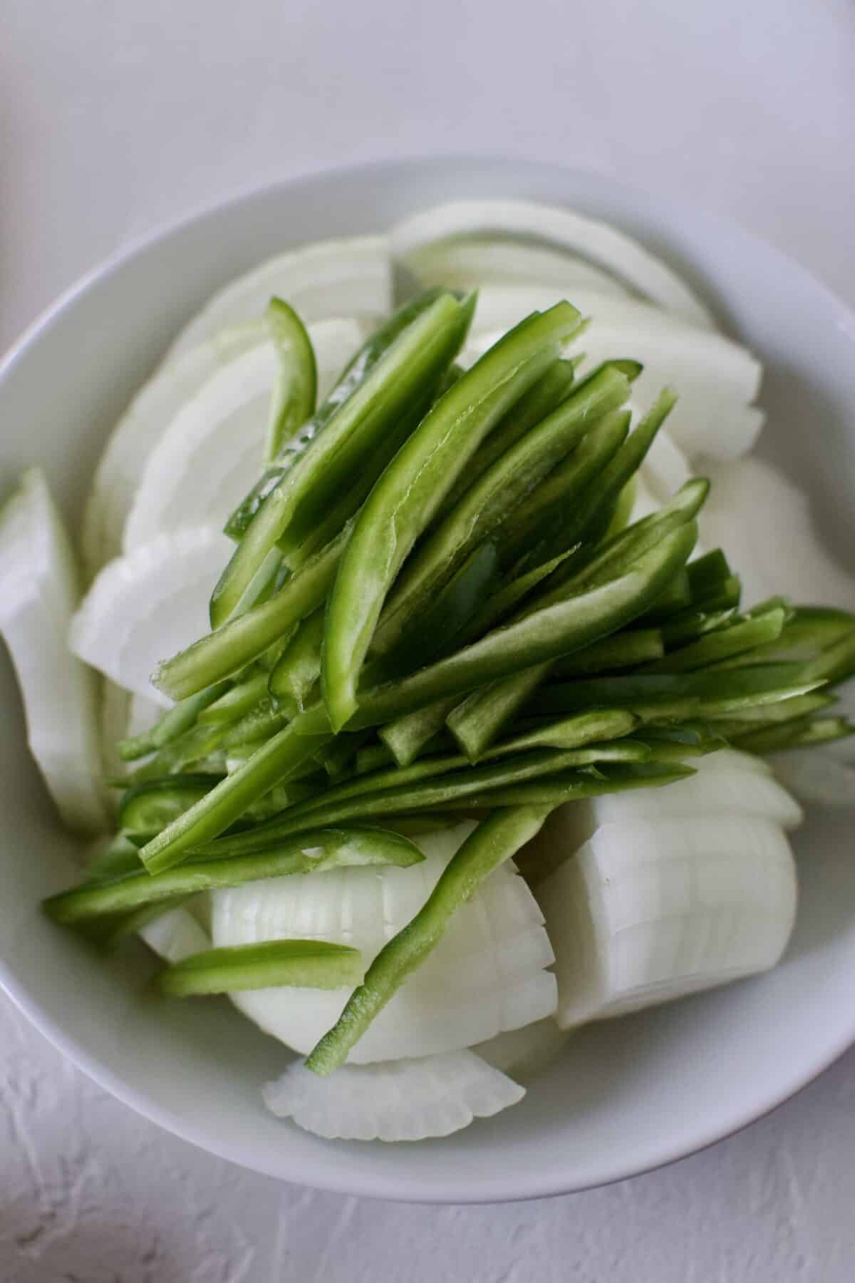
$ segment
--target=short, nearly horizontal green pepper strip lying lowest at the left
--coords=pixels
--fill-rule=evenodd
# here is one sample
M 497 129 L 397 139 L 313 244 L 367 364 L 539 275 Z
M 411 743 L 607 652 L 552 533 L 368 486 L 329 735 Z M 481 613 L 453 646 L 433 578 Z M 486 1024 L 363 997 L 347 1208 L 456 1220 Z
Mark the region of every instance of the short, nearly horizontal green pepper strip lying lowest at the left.
M 341 989 L 359 984 L 363 960 L 350 944 L 328 940 L 265 940 L 194 953 L 159 971 L 154 985 L 169 998 L 299 985 Z

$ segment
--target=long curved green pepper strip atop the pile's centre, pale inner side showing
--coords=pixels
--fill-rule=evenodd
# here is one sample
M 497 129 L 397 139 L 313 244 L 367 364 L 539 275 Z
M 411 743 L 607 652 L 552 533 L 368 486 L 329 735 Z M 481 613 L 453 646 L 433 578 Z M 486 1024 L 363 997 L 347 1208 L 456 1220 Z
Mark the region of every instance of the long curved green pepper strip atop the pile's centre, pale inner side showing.
M 327 607 L 323 690 L 333 730 L 356 711 L 359 672 L 413 544 L 490 429 L 577 325 L 578 312 L 563 303 L 505 335 L 436 403 L 363 504 Z

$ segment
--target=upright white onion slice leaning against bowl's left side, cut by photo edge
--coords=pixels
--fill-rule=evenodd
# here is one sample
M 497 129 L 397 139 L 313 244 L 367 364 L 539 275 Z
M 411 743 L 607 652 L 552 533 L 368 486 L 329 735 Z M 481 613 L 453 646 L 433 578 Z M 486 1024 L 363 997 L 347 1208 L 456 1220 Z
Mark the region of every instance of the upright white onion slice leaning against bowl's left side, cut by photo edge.
M 78 575 L 41 468 L 0 512 L 0 633 L 18 676 L 27 743 L 69 829 L 106 825 L 96 677 L 65 644 Z

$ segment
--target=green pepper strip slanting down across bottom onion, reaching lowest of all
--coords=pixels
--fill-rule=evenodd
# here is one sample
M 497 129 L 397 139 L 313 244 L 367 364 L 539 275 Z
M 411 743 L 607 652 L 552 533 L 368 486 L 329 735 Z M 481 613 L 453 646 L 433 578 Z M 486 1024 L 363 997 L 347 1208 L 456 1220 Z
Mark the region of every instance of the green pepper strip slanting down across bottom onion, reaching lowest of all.
M 478 825 L 451 857 L 413 921 L 377 955 L 333 1028 L 309 1055 L 309 1069 L 329 1074 L 345 1062 L 374 1016 L 438 944 L 455 910 L 472 898 L 494 869 L 540 831 L 547 815 L 547 807 L 519 807 L 496 812 Z

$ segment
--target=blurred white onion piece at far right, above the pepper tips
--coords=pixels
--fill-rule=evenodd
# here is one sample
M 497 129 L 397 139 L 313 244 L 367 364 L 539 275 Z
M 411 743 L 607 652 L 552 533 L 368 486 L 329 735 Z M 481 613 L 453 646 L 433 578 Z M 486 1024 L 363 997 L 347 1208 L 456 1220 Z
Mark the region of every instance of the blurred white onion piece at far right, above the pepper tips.
M 808 495 L 758 458 L 706 470 L 701 538 L 719 544 L 742 580 L 745 604 L 786 591 L 795 602 L 855 609 L 855 579 L 822 545 Z

